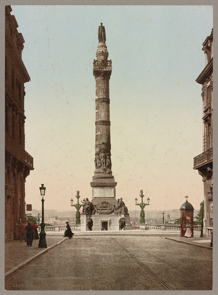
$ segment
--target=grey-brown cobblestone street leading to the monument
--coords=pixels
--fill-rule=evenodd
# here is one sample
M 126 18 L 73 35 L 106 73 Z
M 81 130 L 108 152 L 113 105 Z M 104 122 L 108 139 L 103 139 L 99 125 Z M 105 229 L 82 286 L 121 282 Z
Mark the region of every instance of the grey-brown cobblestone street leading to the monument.
M 212 251 L 159 236 L 74 235 L 8 276 L 5 289 L 209 290 Z

